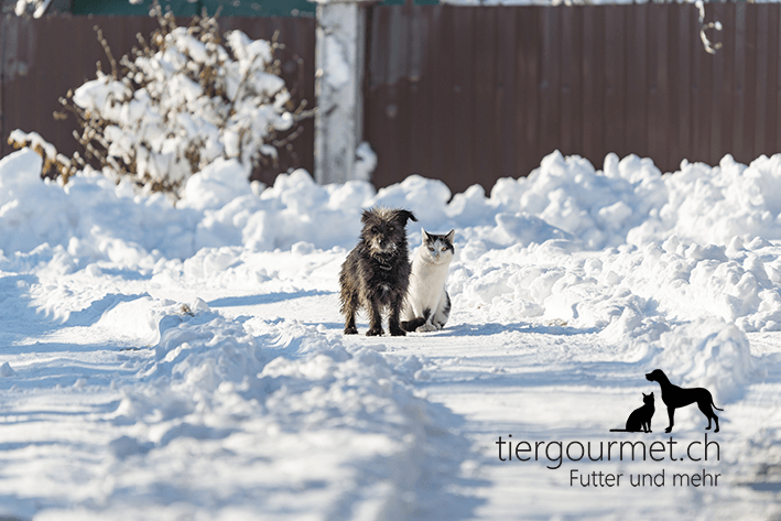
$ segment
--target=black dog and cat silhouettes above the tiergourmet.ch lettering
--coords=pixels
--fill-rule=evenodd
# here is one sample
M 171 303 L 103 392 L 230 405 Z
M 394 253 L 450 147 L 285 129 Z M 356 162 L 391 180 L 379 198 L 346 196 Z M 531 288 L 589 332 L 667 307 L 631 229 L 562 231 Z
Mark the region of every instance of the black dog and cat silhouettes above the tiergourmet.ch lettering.
M 654 369 L 653 371 L 646 375 L 646 379 L 652 382 L 658 382 L 662 391 L 662 402 L 668 408 L 668 417 L 670 420 L 670 425 L 664 430 L 665 433 L 670 433 L 675 425 L 674 416 L 675 410 L 680 408 L 685 408 L 692 403 L 696 403 L 697 408 L 705 414 L 708 420 L 708 426 L 706 430 L 711 430 L 711 421 L 715 422 L 716 428 L 715 433 L 718 432 L 718 416 L 713 411 L 724 411 L 718 409 L 713 402 L 713 395 L 711 391 L 703 388 L 681 388 L 679 386 L 673 386 L 668 379 L 664 371 L 661 369 Z M 626 428 L 611 428 L 610 432 L 629 432 L 629 433 L 650 433 L 651 431 L 651 420 L 655 411 L 653 392 L 651 394 L 643 393 L 642 395 L 643 405 L 636 409 L 627 419 Z

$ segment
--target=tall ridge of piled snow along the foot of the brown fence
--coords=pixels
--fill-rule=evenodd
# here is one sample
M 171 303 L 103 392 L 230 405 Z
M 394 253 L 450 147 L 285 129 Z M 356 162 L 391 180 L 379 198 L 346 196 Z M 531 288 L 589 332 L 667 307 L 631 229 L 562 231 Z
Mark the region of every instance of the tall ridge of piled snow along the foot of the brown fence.
M 529 177 L 499 180 L 490 197 L 479 186 L 452 196 L 442 182 L 416 175 L 378 193 L 366 182 L 319 186 L 304 171 L 280 175 L 273 186 L 256 189 L 258 196 L 240 163 L 218 160 L 189 180 L 178 211 L 162 197 L 139 198 L 129 184 L 113 186 L 97 175 L 74 178 L 64 197 L 58 186 L 37 181 L 40 169 L 30 151 L 0 162 L 3 229 L 24 231 L 6 234 L 3 250 L 66 246 L 76 237 L 94 239 L 100 251 L 98 228 L 166 258 L 187 258 L 204 246 L 259 251 L 303 240 L 323 249 L 348 247 L 357 234 L 355 216 L 376 204 L 404 206 L 432 229 L 460 228 L 462 236 L 480 235 L 502 247 L 554 238 L 577 239 L 587 250 L 640 247 L 672 236 L 703 247 L 726 247 L 736 237 L 781 238 L 781 155 L 749 166 L 729 156 L 713 169 L 684 162 L 680 172 L 662 175 L 637 156 L 619 161 L 610 154 L 596 171 L 556 152 Z M 33 199 L 45 200 L 47 211 L 29 207 Z M 122 225 L 139 226 L 112 229 L 117 214 L 126 216 Z

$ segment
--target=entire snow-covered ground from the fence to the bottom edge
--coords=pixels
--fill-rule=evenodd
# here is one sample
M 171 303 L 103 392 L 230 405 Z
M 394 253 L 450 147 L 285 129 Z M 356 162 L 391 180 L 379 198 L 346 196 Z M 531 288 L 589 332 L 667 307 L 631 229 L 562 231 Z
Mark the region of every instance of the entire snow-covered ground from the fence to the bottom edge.
M 554 153 L 453 196 L 218 161 L 175 207 L 40 170 L 0 161 L 0 515 L 781 515 L 781 155 Z M 372 205 L 456 229 L 444 330 L 343 336 Z M 709 389 L 720 432 L 691 405 L 665 434 L 657 368 Z M 610 432 L 650 392 L 653 433 Z

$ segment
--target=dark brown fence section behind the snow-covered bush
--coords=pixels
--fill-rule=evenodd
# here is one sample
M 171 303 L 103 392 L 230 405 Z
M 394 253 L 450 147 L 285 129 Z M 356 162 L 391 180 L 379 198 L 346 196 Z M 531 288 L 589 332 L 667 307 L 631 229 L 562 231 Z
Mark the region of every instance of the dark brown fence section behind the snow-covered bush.
M 6 17 L 0 19 L 0 156 L 13 148 L 7 143 L 14 129 L 36 131 L 59 152 L 70 155 L 78 143 L 73 138 L 74 118 L 56 121 L 62 109 L 59 97 L 87 79 L 95 78 L 96 62 L 111 70 L 94 26 L 102 29 L 111 53 L 119 59 L 138 45 L 135 35 L 149 35 L 158 22 L 147 17 L 52 17 L 39 20 Z M 181 24 L 186 24 L 183 20 Z M 240 29 L 251 39 L 270 40 L 275 31 L 284 43 L 278 57 L 282 76 L 295 98 L 314 105 L 315 20 L 313 18 L 221 18 L 223 30 Z M 300 58 L 300 59 L 297 59 Z M 293 87 L 295 86 L 295 87 Z M 282 170 L 314 167 L 314 122 L 304 124 L 302 135 L 290 152 L 281 151 Z M 273 182 L 275 172 L 253 174 Z

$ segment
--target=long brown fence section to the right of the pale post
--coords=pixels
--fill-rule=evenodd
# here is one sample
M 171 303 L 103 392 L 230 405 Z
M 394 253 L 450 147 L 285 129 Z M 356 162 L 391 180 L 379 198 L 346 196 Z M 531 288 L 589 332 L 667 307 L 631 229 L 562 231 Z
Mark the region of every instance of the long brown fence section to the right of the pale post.
M 781 152 L 781 6 L 375 7 L 365 137 L 376 184 L 410 173 L 454 192 L 528 175 L 558 149 L 749 162 Z

